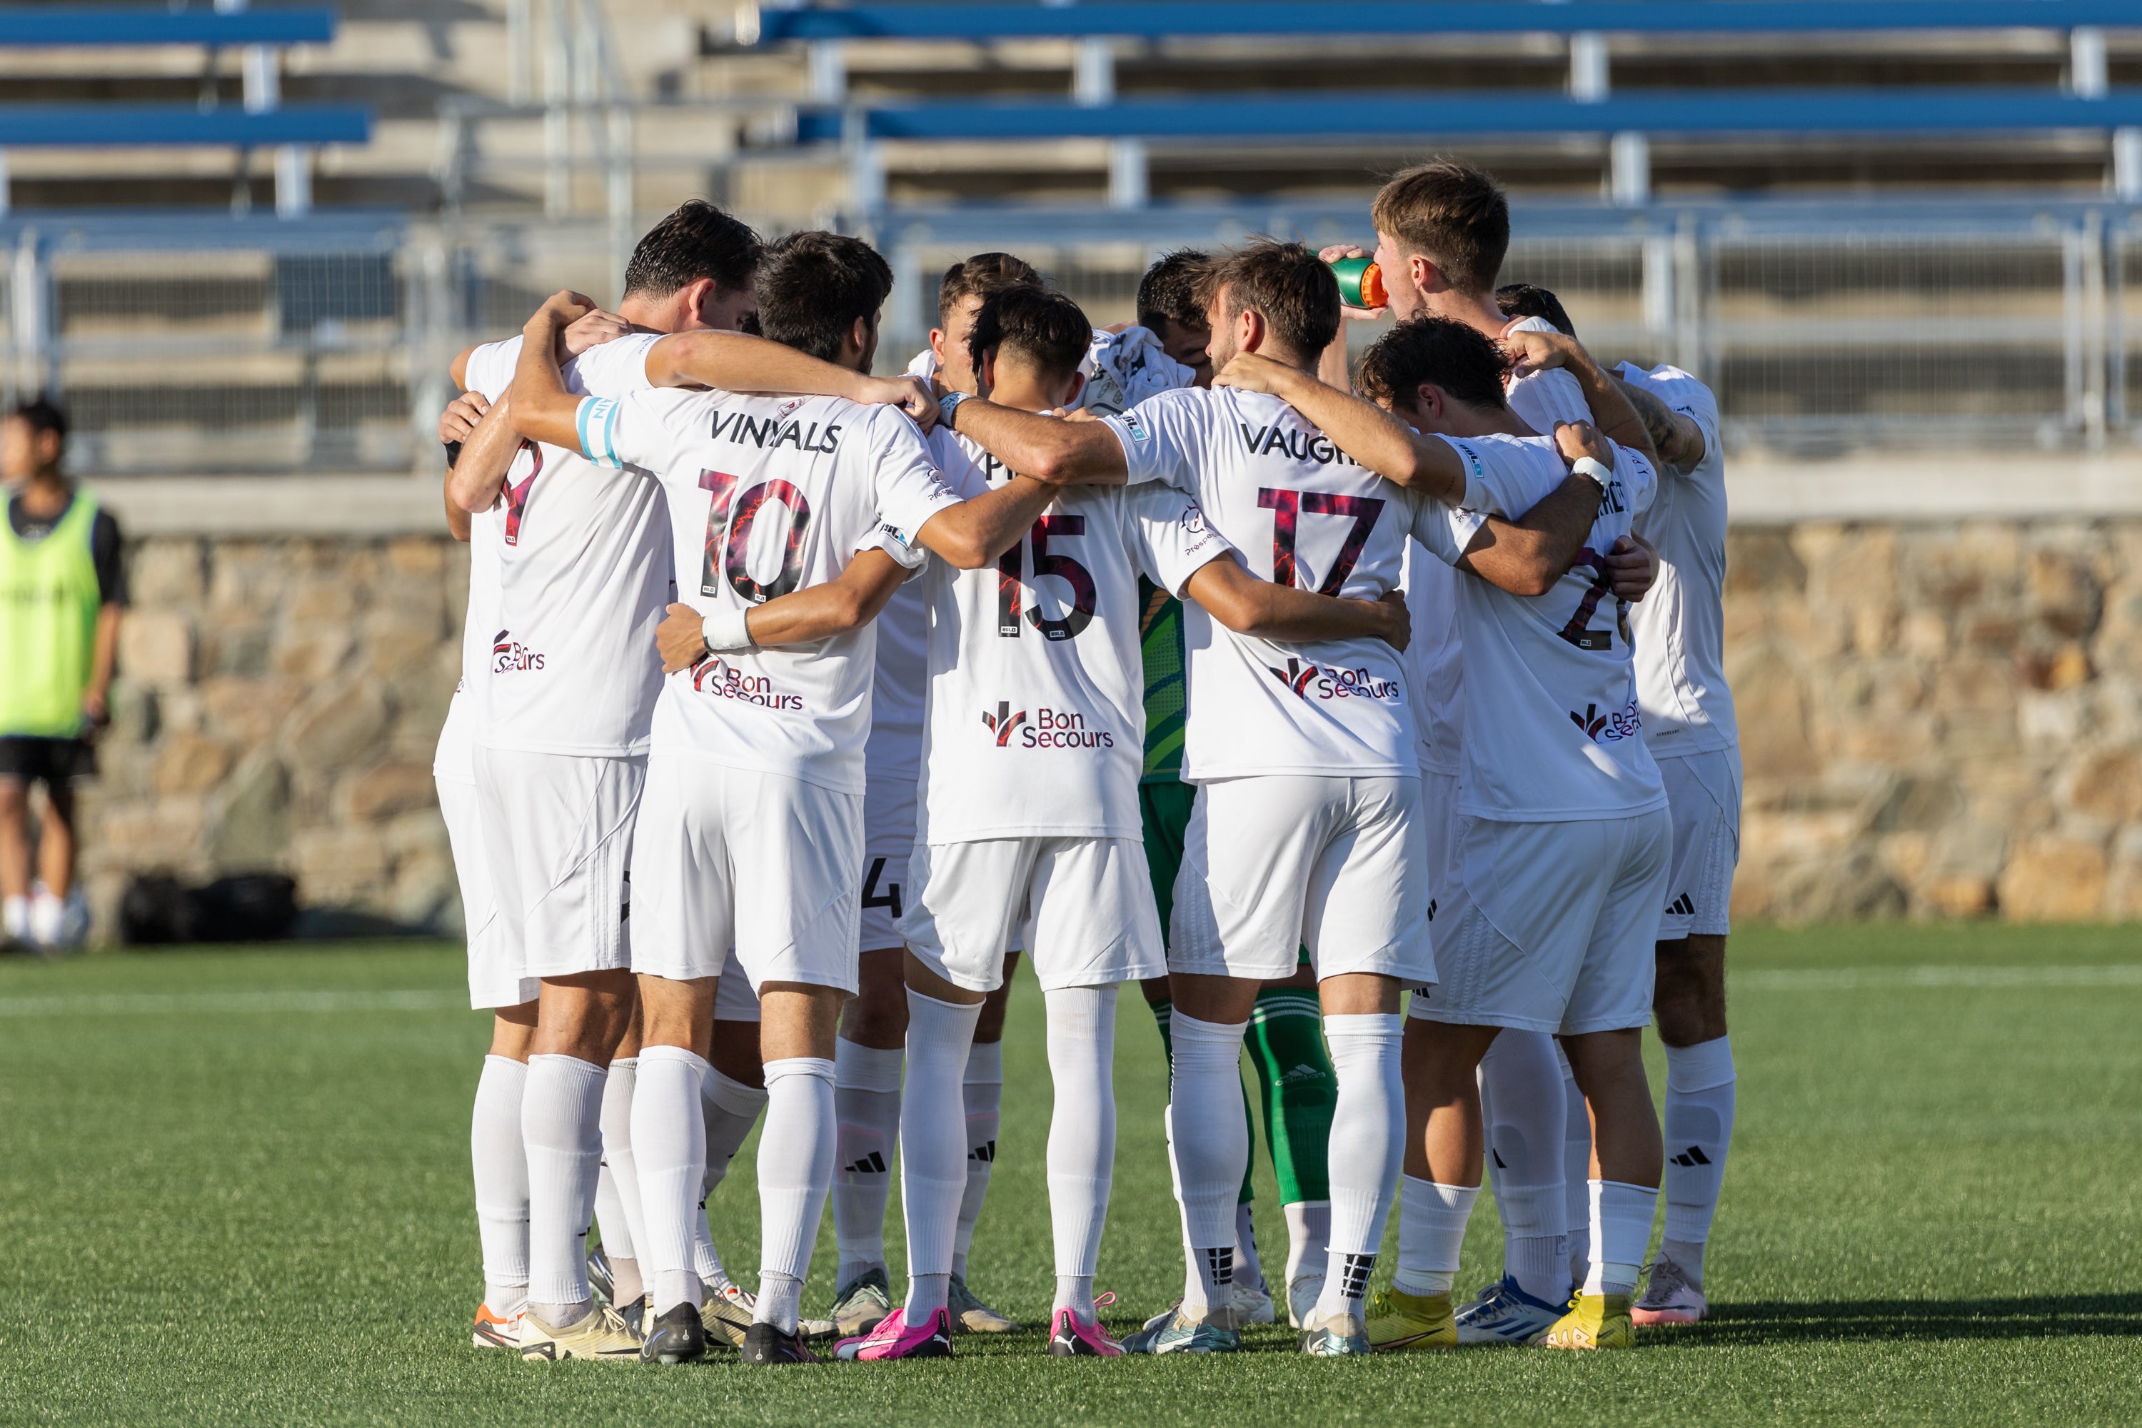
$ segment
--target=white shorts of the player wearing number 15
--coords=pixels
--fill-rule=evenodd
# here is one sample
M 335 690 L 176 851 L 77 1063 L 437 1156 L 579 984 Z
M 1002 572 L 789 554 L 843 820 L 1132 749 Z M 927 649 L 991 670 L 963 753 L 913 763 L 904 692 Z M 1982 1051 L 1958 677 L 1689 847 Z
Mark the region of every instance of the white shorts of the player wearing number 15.
M 900 933 L 955 987 L 996 991 L 1022 944 L 1043 991 L 1161 976 L 1161 914 L 1135 837 L 992 837 L 919 846 Z

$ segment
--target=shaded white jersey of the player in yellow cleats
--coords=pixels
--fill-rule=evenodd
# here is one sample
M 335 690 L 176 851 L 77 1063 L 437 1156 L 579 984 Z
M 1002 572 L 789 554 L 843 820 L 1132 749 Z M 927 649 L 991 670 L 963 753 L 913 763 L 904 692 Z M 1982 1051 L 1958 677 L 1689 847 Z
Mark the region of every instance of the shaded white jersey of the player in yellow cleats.
M 1666 805 L 1643 743 L 1628 610 L 1602 555 L 1651 503 L 1658 477 L 1615 447 L 1613 480 L 1577 563 L 1544 595 L 1459 582 L 1465 623 L 1465 751 L 1459 811 L 1497 822 L 1628 818 Z M 1525 492 L 1538 501 L 1562 477 Z M 1529 505 L 1529 501 L 1523 501 Z M 1457 565 L 1478 531 L 1465 512 L 1422 522 L 1420 540 Z

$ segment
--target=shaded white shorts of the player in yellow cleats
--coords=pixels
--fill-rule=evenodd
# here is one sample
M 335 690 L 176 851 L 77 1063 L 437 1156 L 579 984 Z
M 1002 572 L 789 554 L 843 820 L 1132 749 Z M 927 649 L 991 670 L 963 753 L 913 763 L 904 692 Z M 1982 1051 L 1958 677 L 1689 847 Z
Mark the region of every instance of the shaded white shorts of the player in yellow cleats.
M 1673 850 L 1666 809 L 1585 822 L 1463 818 L 1457 906 L 1435 942 L 1424 1021 L 1525 1032 L 1649 1026 L 1651 953 Z

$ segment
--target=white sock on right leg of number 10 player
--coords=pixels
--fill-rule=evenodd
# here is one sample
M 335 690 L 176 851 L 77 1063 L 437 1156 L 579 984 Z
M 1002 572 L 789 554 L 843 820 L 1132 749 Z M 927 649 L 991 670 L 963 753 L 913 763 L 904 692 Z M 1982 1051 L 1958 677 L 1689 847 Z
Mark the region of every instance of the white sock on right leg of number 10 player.
M 767 1130 L 758 1137 L 758 1323 L 795 1334 L 810 1252 L 833 1186 L 833 1062 L 767 1062 Z M 775 1282 L 769 1276 L 795 1280 Z

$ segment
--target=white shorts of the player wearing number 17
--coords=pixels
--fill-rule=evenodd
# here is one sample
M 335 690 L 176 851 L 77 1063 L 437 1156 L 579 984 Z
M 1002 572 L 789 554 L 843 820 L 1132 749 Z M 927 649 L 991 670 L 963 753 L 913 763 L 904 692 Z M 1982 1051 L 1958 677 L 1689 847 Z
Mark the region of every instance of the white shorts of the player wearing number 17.
M 1197 788 L 1176 871 L 1167 968 L 1435 981 L 1420 779 L 1255 775 Z

